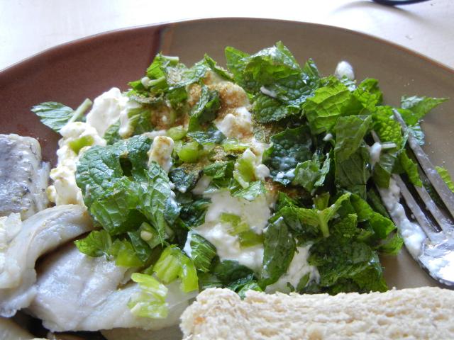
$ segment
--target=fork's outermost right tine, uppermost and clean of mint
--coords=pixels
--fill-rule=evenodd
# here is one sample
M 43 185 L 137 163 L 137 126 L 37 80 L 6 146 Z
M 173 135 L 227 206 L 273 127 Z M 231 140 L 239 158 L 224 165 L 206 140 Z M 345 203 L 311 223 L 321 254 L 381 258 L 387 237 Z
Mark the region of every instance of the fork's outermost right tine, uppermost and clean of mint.
M 400 113 L 395 109 L 393 111 L 394 118 L 396 118 L 402 128 L 406 130 L 407 126 Z M 427 154 L 423 152 L 423 149 L 419 146 L 411 131 L 409 131 L 409 146 L 413 150 L 416 159 L 418 159 L 421 168 L 426 173 L 428 180 L 431 181 L 433 188 L 435 188 L 441 200 L 445 203 L 451 217 L 454 218 L 454 193 L 450 191 L 446 183 L 441 179 L 440 174 L 438 174 L 438 171 L 436 171 L 432 162 L 428 159 Z

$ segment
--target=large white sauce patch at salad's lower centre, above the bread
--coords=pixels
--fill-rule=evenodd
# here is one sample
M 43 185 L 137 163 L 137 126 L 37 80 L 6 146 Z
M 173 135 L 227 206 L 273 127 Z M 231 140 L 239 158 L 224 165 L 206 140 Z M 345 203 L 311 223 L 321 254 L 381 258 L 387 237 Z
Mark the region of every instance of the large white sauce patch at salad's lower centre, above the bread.
M 272 198 L 259 196 L 253 201 L 243 198 L 235 198 L 228 191 L 220 191 L 206 195 L 211 198 L 211 204 L 206 210 L 205 222 L 196 227 L 193 232 L 209 240 L 214 246 L 221 260 L 238 261 L 244 266 L 259 271 L 262 267 L 263 245 L 240 247 L 238 236 L 228 233 L 231 225 L 220 221 L 222 213 L 238 215 L 243 222 L 247 223 L 254 232 L 261 234 L 271 216 L 270 205 Z M 188 237 L 184 246 L 186 254 L 190 254 Z M 188 248 L 189 247 L 189 248 Z M 188 254 L 188 255 L 189 255 Z

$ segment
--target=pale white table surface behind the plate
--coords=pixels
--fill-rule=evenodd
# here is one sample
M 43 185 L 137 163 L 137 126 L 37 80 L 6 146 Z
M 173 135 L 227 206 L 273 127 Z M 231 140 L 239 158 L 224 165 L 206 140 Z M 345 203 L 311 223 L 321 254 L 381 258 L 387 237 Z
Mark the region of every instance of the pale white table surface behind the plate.
M 249 3 L 250 2 L 250 3 Z M 254 17 L 324 23 L 396 42 L 454 68 L 454 1 L 0 0 L 0 69 L 87 35 L 189 18 Z

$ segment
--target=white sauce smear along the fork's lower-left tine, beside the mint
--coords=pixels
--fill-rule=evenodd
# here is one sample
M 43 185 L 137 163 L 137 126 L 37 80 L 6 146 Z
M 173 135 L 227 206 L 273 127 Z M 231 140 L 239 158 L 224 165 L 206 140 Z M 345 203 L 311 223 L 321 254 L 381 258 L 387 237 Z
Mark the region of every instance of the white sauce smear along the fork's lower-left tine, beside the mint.
M 389 188 L 380 188 L 383 203 L 391 215 L 400 234 L 404 238 L 406 249 L 408 249 L 414 259 L 421 255 L 423 242 L 426 240 L 426 234 L 423 229 L 414 222 L 410 222 L 406 217 L 404 207 L 399 203 L 400 189 L 394 179 L 389 180 Z

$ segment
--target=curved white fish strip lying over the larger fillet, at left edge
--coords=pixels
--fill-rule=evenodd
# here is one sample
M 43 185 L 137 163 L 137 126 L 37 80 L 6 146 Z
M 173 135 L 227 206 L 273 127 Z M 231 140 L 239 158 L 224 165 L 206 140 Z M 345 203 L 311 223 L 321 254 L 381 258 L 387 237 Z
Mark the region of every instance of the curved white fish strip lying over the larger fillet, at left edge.
M 35 297 L 35 261 L 89 232 L 92 222 L 80 205 L 48 208 L 24 222 L 18 214 L 0 219 L 0 315 L 11 317 Z

